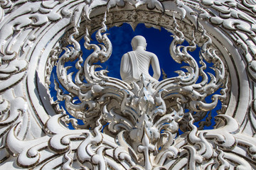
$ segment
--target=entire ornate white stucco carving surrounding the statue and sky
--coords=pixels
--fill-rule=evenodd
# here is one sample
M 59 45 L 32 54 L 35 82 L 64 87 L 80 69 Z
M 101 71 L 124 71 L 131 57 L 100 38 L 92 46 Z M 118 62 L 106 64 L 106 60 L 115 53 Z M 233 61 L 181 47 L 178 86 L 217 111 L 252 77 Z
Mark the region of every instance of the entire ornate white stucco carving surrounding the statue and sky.
M 255 1 L 0 5 L 0 169 L 256 169 Z M 112 54 L 107 27 L 122 23 L 169 30 L 170 55 L 187 71 L 130 84 L 98 70 Z M 100 45 L 90 43 L 95 30 Z M 82 37 L 93 50 L 87 57 Z M 189 53 L 196 47 L 200 62 Z M 67 65 L 74 61 L 75 78 Z M 53 67 L 57 100 L 49 92 Z M 203 130 L 218 102 L 215 129 Z

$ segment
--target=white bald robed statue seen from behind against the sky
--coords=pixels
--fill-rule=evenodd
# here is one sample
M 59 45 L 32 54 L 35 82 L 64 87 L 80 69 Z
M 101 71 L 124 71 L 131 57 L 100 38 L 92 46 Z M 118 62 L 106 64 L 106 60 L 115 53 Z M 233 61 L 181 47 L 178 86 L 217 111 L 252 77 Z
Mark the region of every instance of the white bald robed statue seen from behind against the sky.
M 127 83 L 137 82 L 143 74 L 146 81 L 158 82 L 161 75 L 159 60 L 154 53 L 146 51 L 146 39 L 141 35 L 132 38 L 132 50 L 122 56 L 122 80 Z M 154 71 L 153 77 L 149 74 L 150 64 Z

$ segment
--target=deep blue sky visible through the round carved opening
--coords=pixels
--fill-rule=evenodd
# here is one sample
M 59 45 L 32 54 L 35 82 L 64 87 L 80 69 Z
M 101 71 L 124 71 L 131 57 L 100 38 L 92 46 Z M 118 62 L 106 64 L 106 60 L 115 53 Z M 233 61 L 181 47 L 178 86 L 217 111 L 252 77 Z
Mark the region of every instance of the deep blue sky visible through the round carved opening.
M 176 62 L 174 62 L 174 60 L 172 59 L 170 52 L 169 52 L 169 46 L 171 44 L 171 41 L 173 40 L 173 38 L 171 37 L 171 33 L 169 33 L 167 30 L 165 30 L 164 28 L 162 28 L 161 30 L 157 30 L 155 28 L 146 28 L 146 26 L 144 26 L 144 24 L 139 24 L 137 26 L 137 28 L 134 30 L 132 30 L 132 27 L 129 26 L 129 24 L 124 23 L 123 26 L 121 27 L 113 27 L 110 28 L 109 30 L 107 30 L 107 33 L 109 33 L 110 35 L 108 35 L 108 38 L 110 38 L 111 42 L 112 42 L 112 55 L 110 57 L 109 60 L 107 60 L 107 62 L 100 64 L 102 66 L 103 69 L 106 69 L 109 71 L 108 76 L 110 77 L 115 77 L 117 79 L 121 79 L 120 74 L 119 74 L 119 69 L 120 69 L 120 62 L 122 59 L 122 55 L 124 55 L 126 52 L 129 52 L 132 50 L 132 45 L 131 45 L 131 41 L 132 38 L 136 35 L 142 35 L 144 36 L 144 38 L 146 38 L 146 42 L 147 42 L 147 47 L 146 50 L 149 52 L 153 52 L 158 58 L 159 58 L 159 64 L 161 69 L 164 69 L 164 72 L 166 72 L 167 77 L 176 77 L 178 76 L 178 74 L 175 73 L 175 71 L 177 70 L 183 70 L 186 72 L 185 69 L 181 69 L 181 67 L 183 65 L 186 64 L 178 64 Z M 83 59 L 85 60 L 85 58 L 87 56 L 90 55 L 90 53 L 92 52 L 92 50 L 86 50 L 84 47 L 84 38 L 82 38 L 80 40 L 80 45 L 81 45 L 81 49 L 82 49 L 82 55 L 83 55 Z M 92 41 L 91 43 L 94 44 L 98 44 L 98 42 L 95 40 L 95 33 L 92 34 Z M 183 45 L 188 45 L 188 42 L 184 42 Z M 198 62 L 199 60 L 199 50 L 200 47 L 198 47 L 194 52 L 190 52 L 191 55 L 196 59 L 196 61 Z M 60 55 L 61 56 L 61 55 Z M 65 65 L 73 65 L 75 66 L 75 62 L 77 62 L 78 60 L 75 60 L 74 62 L 68 62 Z M 206 63 L 208 64 L 208 63 Z M 200 66 L 200 64 L 199 64 Z M 208 64 L 208 67 L 212 66 L 212 64 Z M 75 69 L 75 67 L 71 68 L 69 70 L 69 72 L 77 72 L 77 70 Z M 206 69 L 206 72 L 211 72 L 212 74 L 215 74 L 213 72 L 212 69 Z M 152 70 L 149 70 L 149 73 L 152 73 Z M 75 74 L 73 74 L 73 76 L 75 77 Z M 56 96 L 56 91 L 54 89 L 54 79 L 56 76 L 56 68 L 53 68 L 53 72 L 52 75 L 50 77 L 50 94 L 51 96 L 53 96 L 53 99 L 56 100 L 57 98 Z M 162 75 L 161 78 L 159 80 L 162 79 Z M 200 79 L 198 80 L 200 81 Z M 60 86 L 61 88 L 61 86 Z M 68 91 L 65 91 L 63 89 L 64 93 L 68 93 Z M 219 92 L 219 91 L 218 91 Z M 209 96 L 208 98 L 206 98 L 207 102 L 211 102 L 210 99 L 211 96 Z M 77 101 L 79 102 L 79 101 Z M 60 107 L 63 106 L 63 108 L 65 108 L 65 103 L 64 101 L 60 102 Z M 221 104 L 220 102 L 218 103 L 218 106 L 213 109 L 212 111 L 212 116 L 213 118 L 211 119 L 212 125 L 210 127 L 205 127 L 205 129 L 212 129 L 213 125 L 215 124 L 214 122 L 214 116 L 217 115 L 216 111 L 218 111 L 221 108 Z M 82 124 L 82 121 L 79 121 L 79 123 Z M 195 125 L 198 125 L 198 123 L 195 123 Z M 72 128 L 72 127 L 70 127 Z

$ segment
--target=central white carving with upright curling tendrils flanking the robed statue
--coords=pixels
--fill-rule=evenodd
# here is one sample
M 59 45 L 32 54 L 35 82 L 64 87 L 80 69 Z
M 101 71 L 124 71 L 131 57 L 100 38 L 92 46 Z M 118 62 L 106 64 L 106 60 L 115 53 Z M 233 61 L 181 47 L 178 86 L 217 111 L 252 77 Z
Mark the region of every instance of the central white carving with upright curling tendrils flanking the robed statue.
M 124 147 L 126 152 L 132 152 L 133 159 L 140 162 L 141 166 L 151 169 L 153 166 L 149 153 L 161 155 L 169 147 L 174 147 L 176 133 L 180 128 L 179 122 L 184 124 L 181 127 L 183 130 L 193 127 L 192 124 L 187 124 L 188 120 L 183 119 L 184 115 L 192 121 L 191 113 L 199 115 L 210 111 L 215 108 L 218 100 L 227 99 L 228 79 L 225 64 L 218 57 L 210 37 L 206 35 L 206 30 L 201 26 L 203 42 L 201 42 L 201 66 L 199 66 L 188 52 L 196 49 L 195 33 L 192 32 L 191 45 L 181 45 L 185 37 L 183 32 L 178 29 L 176 18 L 173 17 L 174 40 L 171 42 L 169 50 L 176 62 L 188 64 L 186 67 L 188 72 L 178 72 L 178 77 L 164 79 L 160 82 L 150 81 L 144 77 L 147 73 L 142 74 L 140 79 L 138 77 L 139 81 L 136 79 L 136 81 L 125 82 L 108 77 L 105 74 L 107 70 L 95 71 L 100 67 L 95 63 L 107 61 L 112 54 L 112 44 L 105 33 L 106 21 L 107 14 L 103 18 L 102 28 L 97 30 L 95 36 L 97 41 L 102 42 L 103 45 L 90 44 L 87 28 L 85 47 L 87 50 L 93 49 L 94 52 L 86 59 L 81 57 L 80 45 L 73 38 L 78 30 L 70 35 L 70 44 L 73 44 L 74 47 L 65 48 L 65 53 L 58 60 L 56 67 L 58 81 L 69 93 L 63 94 L 55 81 L 58 100 L 65 101 L 70 115 L 82 120 L 85 125 L 78 125 L 70 118 L 65 120 L 66 123 L 71 122 L 73 127 L 78 129 L 86 127 L 101 129 L 101 123 L 109 123 L 104 132 L 116 137 L 118 145 Z M 70 76 L 72 74 L 68 74 L 70 67 L 65 67 L 65 62 L 78 58 L 79 60 L 75 64 L 78 72 L 73 81 Z M 215 75 L 210 74 L 210 79 L 204 71 L 206 64 L 203 61 L 213 62 Z M 156 68 L 154 69 L 156 70 Z M 158 69 L 157 71 L 160 72 L 160 68 Z M 202 77 L 200 82 L 197 81 L 198 77 Z M 222 92 L 214 94 L 220 88 Z M 212 94 L 213 101 L 206 103 L 205 98 Z M 80 103 L 74 103 L 75 97 L 79 98 Z M 167 104 L 169 105 L 166 106 Z M 185 109 L 190 112 L 185 113 Z M 95 120 L 97 120 L 96 124 Z M 196 128 L 193 127 L 193 129 Z M 193 139 L 191 140 L 193 141 Z M 162 149 L 159 151 L 159 148 Z M 171 149 L 171 152 L 176 151 Z

